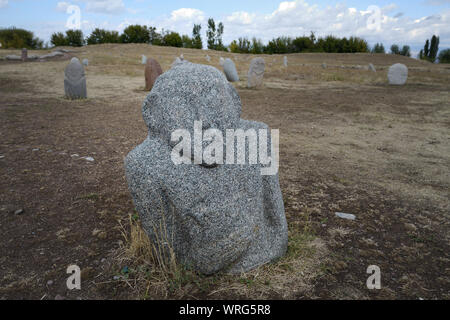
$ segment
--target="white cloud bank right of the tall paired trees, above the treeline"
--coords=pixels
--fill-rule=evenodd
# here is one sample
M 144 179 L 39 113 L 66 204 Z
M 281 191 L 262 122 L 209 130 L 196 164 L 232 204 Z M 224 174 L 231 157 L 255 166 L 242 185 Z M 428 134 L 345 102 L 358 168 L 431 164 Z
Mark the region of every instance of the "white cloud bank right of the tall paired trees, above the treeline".
M 423 46 L 426 38 L 438 34 L 442 47 L 450 45 L 450 10 L 413 20 L 394 15 L 396 8 L 395 4 L 380 8 L 380 28 L 374 29 L 368 24 L 373 18 L 373 12 L 368 10 L 358 11 L 343 4 L 321 8 L 305 0 L 281 2 L 270 14 L 235 12 L 223 17 L 224 42 L 229 43 L 238 36 L 256 36 L 267 42 L 281 35 L 302 36 L 314 31 L 316 36 L 358 36 L 372 44 L 384 42 L 385 46 L 394 42 Z

